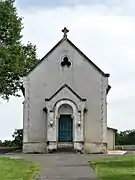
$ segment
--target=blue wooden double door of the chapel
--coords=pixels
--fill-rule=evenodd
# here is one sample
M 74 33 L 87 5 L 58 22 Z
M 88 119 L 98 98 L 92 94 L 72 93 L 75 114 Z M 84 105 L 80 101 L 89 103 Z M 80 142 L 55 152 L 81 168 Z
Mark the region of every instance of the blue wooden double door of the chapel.
M 70 115 L 61 115 L 59 119 L 59 142 L 73 141 L 73 119 Z

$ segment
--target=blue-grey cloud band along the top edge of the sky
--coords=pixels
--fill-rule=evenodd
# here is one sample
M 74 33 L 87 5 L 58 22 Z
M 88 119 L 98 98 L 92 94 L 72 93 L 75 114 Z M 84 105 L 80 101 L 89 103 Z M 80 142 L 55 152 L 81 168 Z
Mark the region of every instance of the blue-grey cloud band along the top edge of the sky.
M 77 7 L 77 6 L 97 6 L 101 11 L 101 6 L 121 12 L 123 15 L 135 15 L 134 0 L 17 0 L 17 5 L 24 9 L 29 8 L 55 8 L 55 7 Z M 97 9 L 98 10 L 98 9 Z

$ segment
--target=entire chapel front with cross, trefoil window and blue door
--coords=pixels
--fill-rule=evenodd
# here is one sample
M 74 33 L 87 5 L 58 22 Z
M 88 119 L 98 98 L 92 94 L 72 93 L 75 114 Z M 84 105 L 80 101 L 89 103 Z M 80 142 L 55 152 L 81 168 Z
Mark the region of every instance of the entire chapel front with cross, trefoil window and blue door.
M 115 133 L 107 140 L 110 75 L 68 39 L 67 28 L 62 32 L 62 39 L 23 78 L 23 152 L 69 148 L 105 153 L 108 143 L 112 148 L 115 143 Z

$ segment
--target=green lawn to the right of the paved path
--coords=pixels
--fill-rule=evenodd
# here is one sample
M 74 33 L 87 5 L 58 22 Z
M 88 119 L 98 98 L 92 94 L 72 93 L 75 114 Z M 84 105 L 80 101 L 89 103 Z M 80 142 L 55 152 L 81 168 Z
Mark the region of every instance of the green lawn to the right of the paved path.
M 120 156 L 91 162 L 100 180 L 135 180 L 135 156 Z

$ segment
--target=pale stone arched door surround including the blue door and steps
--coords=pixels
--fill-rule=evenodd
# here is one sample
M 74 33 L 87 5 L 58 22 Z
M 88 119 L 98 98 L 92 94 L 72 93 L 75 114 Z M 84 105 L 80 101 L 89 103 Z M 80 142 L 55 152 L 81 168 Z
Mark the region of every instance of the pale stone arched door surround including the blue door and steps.
M 60 99 L 53 101 L 53 104 L 47 104 L 47 151 L 79 151 L 83 148 L 84 107 L 84 102 L 70 99 Z

